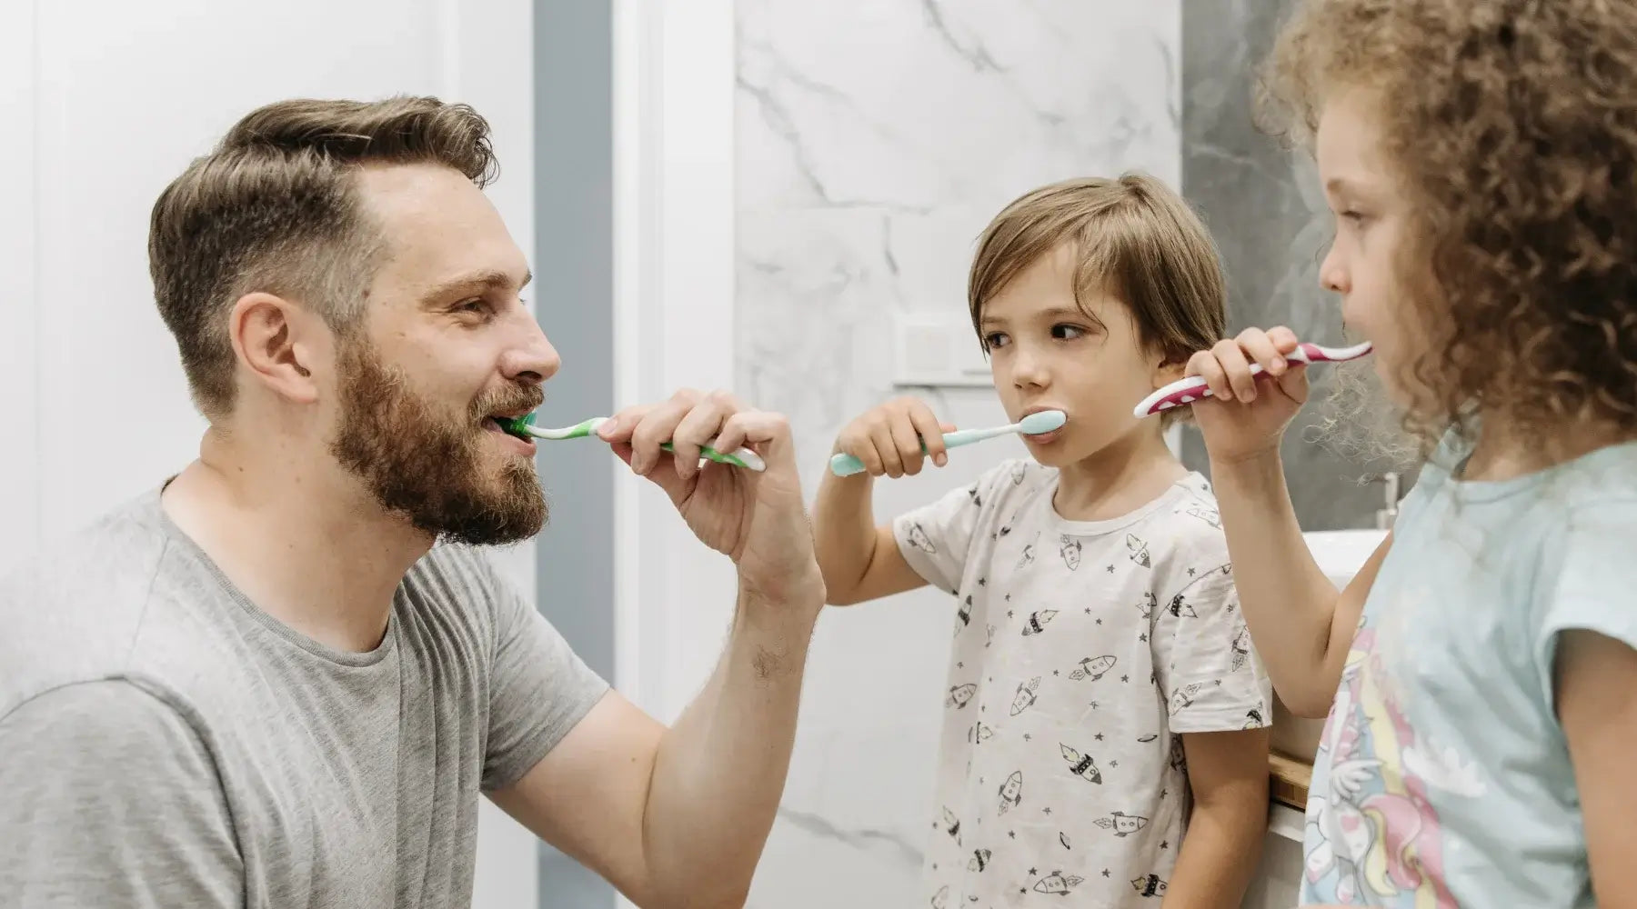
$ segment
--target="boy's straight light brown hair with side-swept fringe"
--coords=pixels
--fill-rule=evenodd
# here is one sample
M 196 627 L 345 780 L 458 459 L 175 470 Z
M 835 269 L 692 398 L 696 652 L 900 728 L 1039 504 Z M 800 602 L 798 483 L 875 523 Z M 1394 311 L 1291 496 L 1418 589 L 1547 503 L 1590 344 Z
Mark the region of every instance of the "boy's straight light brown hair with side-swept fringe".
M 1041 186 L 989 222 L 966 291 L 979 337 L 984 304 L 1064 244 L 1076 250 L 1076 301 L 1084 307 L 1095 291 L 1120 299 L 1141 343 L 1167 361 L 1185 363 L 1228 330 L 1226 283 L 1210 231 L 1164 183 L 1128 172 Z M 1185 410 L 1167 410 L 1164 425 Z

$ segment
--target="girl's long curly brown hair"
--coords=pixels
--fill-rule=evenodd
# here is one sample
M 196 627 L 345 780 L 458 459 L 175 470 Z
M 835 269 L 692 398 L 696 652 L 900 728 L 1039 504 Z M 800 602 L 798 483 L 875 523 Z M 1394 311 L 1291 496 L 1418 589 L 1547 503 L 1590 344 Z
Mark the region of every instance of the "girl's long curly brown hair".
M 1637 433 L 1637 2 L 1301 0 L 1262 128 L 1311 146 L 1349 88 L 1414 203 L 1405 428 L 1424 451 L 1478 414 L 1539 446 L 1581 420 Z

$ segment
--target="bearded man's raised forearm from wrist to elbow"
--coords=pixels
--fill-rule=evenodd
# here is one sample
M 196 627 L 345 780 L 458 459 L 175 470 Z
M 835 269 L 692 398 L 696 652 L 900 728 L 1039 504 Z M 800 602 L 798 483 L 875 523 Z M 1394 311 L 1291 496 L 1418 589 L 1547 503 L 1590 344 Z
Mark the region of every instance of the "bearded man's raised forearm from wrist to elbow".
M 643 852 L 658 893 L 743 902 L 784 793 L 822 607 L 822 585 L 782 603 L 742 585 L 727 652 L 655 759 Z

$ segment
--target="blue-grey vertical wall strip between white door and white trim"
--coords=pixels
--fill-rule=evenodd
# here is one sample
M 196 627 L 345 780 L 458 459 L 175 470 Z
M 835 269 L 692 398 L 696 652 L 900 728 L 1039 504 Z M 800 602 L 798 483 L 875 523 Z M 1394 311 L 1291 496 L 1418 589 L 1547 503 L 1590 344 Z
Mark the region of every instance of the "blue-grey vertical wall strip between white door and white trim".
M 609 0 L 535 0 L 535 312 L 563 356 L 542 415 L 614 412 L 612 33 Z M 504 167 L 506 162 L 501 162 Z M 614 464 L 606 445 L 545 443 L 552 522 L 535 538 L 540 611 L 614 677 Z M 570 479 L 573 477 L 573 479 Z M 540 909 L 606 909 L 614 889 L 540 844 Z

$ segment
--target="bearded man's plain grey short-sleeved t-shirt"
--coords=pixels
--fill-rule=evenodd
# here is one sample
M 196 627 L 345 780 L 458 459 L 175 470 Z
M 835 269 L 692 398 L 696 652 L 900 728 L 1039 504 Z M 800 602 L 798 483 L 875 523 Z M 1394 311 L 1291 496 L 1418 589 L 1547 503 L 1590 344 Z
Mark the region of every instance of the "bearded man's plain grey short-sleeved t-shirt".
M 606 690 L 475 549 L 342 652 L 149 492 L 0 579 L 0 906 L 468 906 L 480 790 Z

